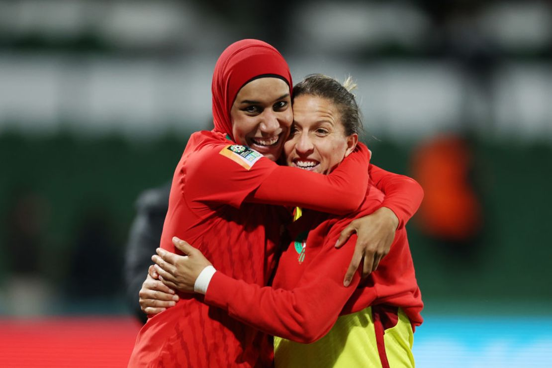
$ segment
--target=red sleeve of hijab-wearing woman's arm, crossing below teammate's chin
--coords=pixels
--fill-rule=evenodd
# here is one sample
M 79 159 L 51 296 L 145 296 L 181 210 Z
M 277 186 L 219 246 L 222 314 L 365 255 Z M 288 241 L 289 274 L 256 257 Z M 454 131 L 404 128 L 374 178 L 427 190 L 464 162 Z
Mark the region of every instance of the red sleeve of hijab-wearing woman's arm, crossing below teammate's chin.
M 347 214 L 358 209 L 364 200 L 369 158 L 370 151 L 359 143 L 329 175 L 278 166 L 246 201 Z

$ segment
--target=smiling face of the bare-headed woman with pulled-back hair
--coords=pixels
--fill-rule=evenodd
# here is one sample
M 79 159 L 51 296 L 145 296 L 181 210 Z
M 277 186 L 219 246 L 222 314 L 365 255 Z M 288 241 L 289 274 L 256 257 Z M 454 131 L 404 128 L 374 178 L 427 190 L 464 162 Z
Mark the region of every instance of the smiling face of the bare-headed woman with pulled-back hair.
M 293 113 L 284 144 L 288 166 L 329 174 L 356 147 L 358 135 L 345 135 L 341 114 L 330 100 L 300 95 L 294 100 Z

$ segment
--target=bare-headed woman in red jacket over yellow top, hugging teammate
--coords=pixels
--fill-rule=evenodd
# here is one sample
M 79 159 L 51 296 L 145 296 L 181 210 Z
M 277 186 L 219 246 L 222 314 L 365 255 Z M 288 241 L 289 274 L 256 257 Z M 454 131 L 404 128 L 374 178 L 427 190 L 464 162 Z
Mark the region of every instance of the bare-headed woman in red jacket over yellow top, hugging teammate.
M 316 74 L 296 84 L 294 125 L 284 144 L 288 166 L 328 174 L 353 152 L 362 122 L 351 88 L 351 79 L 341 86 Z M 422 323 L 423 304 L 405 228 L 396 231 L 389 254 L 368 279 L 361 281 L 357 273 L 352 287 L 341 282 L 355 239 L 337 249 L 341 231 L 352 219 L 377 210 L 383 200 L 384 194 L 370 186 L 363 204 L 348 216 L 296 209 L 301 216 L 288 225 L 294 240 L 279 259 L 272 287 L 215 272 L 206 290 L 198 290 L 198 276 L 213 265 L 176 238 L 174 245 L 188 256 L 158 249 L 156 273 L 166 286 L 200 292 L 209 305 L 277 336 L 276 366 L 413 367 L 413 327 Z

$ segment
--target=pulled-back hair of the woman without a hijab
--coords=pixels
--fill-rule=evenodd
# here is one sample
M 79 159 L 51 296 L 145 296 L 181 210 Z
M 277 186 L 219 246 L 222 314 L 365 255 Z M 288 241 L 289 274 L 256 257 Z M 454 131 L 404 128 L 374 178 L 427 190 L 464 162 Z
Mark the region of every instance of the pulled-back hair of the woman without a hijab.
M 349 76 L 343 84 L 332 77 L 323 74 L 309 74 L 301 82 L 293 87 L 293 98 L 300 95 L 311 95 L 330 100 L 336 105 L 341 114 L 341 122 L 345 128 L 345 135 L 360 134 L 362 128 L 362 116 L 358 110 L 357 100 L 351 90 L 357 85 Z

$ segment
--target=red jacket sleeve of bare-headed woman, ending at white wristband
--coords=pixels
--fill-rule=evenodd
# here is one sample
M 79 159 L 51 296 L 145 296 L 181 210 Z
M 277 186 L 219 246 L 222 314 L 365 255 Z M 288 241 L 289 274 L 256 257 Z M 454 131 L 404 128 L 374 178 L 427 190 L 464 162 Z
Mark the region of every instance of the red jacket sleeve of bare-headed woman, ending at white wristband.
M 268 334 L 299 343 L 320 339 L 335 324 L 360 280 L 357 273 L 350 286 L 343 286 L 356 236 L 343 249 L 336 249 L 339 232 L 336 229 L 331 233 L 333 236 L 326 238 L 323 249 L 310 261 L 295 289 L 247 284 L 217 271 L 210 281 L 205 302 Z

